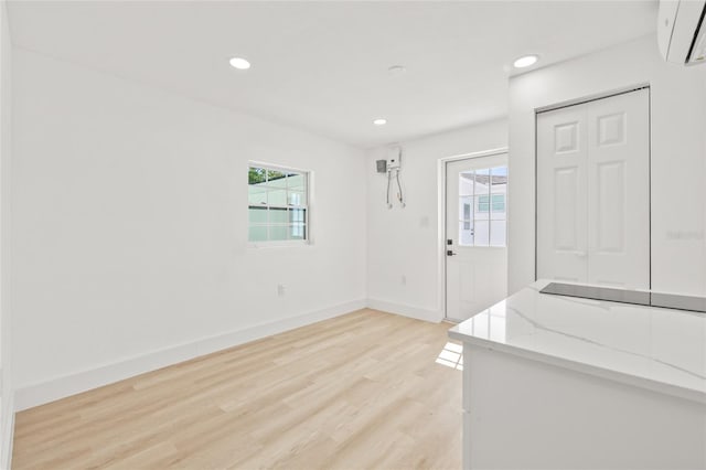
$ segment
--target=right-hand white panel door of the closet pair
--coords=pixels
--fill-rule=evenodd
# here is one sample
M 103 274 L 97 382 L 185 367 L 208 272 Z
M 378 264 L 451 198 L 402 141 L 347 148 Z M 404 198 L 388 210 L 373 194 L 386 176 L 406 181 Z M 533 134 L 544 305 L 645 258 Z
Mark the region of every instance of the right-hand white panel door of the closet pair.
M 589 284 L 650 288 L 650 109 L 641 89 L 588 107 Z

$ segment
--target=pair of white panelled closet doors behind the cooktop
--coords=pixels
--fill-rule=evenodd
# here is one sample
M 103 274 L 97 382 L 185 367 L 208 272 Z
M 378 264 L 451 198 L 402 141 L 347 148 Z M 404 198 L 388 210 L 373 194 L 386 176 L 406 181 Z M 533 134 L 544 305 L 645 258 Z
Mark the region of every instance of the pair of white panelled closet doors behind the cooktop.
M 650 98 L 537 115 L 537 277 L 650 288 Z

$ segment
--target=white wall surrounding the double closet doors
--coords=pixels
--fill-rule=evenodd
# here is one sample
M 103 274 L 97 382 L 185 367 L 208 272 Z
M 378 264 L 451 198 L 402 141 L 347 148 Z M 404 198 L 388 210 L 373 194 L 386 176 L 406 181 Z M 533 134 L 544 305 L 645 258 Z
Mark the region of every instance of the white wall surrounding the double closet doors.
M 509 290 L 534 280 L 534 110 L 651 85 L 652 288 L 705 293 L 706 67 L 665 63 L 648 36 L 510 81 Z

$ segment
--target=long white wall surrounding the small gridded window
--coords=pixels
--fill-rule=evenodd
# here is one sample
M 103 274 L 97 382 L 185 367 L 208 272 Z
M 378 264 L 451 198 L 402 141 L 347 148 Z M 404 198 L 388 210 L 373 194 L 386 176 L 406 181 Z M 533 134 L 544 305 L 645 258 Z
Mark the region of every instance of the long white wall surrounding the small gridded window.
M 363 151 L 24 50 L 13 58 L 19 409 L 364 306 Z M 313 172 L 313 245 L 247 246 L 248 160 Z M 173 354 L 149 355 L 161 350 Z

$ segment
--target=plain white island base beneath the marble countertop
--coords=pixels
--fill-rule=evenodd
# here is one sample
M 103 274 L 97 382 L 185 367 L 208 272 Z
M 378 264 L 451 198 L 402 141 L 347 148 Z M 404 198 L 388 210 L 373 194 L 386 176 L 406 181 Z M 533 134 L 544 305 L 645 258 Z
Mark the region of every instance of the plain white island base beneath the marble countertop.
M 706 405 L 463 344 L 464 469 L 706 469 Z

